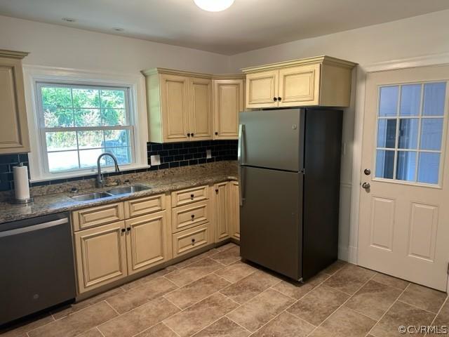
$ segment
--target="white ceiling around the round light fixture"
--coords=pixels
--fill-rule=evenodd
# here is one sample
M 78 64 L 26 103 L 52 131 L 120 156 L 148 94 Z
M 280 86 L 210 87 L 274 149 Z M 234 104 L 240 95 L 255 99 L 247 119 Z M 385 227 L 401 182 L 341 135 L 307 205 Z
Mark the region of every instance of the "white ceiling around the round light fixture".
M 226 55 L 448 8 L 448 0 L 235 0 L 209 13 L 193 0 L 0 0 L 0 15 Z

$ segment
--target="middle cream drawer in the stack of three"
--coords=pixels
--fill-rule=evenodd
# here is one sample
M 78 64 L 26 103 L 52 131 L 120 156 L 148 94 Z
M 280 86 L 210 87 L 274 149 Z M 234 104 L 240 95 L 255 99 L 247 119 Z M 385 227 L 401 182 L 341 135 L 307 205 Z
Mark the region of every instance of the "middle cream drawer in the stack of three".
M 171 210 L 171 227 L 173 233 L 187 230 L 210 220 L 209 201 L 176 207 Z

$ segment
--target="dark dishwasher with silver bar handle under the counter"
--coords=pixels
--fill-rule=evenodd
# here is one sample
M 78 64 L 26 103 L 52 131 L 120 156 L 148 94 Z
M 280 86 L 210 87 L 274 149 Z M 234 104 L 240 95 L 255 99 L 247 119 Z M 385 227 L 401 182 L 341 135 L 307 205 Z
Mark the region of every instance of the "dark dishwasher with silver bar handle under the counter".
M 75 296 L 67 213 L 0 224 L 0 325 Z

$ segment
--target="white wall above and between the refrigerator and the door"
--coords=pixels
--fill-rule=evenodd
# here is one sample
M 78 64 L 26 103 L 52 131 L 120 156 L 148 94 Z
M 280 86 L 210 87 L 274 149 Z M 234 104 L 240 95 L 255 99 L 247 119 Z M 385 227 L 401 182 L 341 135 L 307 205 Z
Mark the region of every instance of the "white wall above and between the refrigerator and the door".
M 357 88 L 357 101 L 363 103 L 364 83 L 361 82 L 364 81 L 364 69 L 366 66 L 382 61 L 449 53 L 448 32 L 449 11 L 440 11 L 382 25 L 293 41 L 230 57 L 229 72 L 236 72 L 242 67 L 316 55 L 330 55 L 359 63 L 360 67 L 356 70 L 358 74 L 354 74 L 353 77 L 353 83 L 356 85 L 353 86 L 351 107 L 344 112 L 343 143 L 346 145 L 346 154 L 342 157 L 340 195 L 341 258 L 349 257 L 351 262 L 355 262 L 354 257 L 356 257 L 357 228 L 354 228 L 354 225 L 350 228 L 349 222 L 350 218 L 351 220 L 358 220 L 354 210 L 351 214 L 351 199 L 353 204 L 356 204 L 354 200 L 358 200 L 357 179 L 359 179 L 360 172 L 358 161 L 361 148 L 361 130 L 358 128 L 361 128 L 361 119 L 363 119 L 363 104 L 356 110 L 356 98 L 354 96 Z M 359 79 L 358 83 L 355 81 L 356 76 Z M 354 124 L 354 121 L 356 121 L 356 124 Z M 356 126 L 355 133 L 354 125 Z M 351 185 L 351 180 L 357 180 L 353 184 L 354 186 Z M 352 232 L 351 240 L 349 239 L 350 232 Z

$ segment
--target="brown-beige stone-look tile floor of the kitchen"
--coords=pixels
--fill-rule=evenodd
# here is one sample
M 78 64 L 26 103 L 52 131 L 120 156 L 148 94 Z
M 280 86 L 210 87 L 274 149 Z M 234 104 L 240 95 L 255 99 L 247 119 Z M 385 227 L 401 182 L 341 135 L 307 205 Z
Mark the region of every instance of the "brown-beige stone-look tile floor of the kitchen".
M 401 325 L 449 326 L 446 294 L 342 261 L 298 286 L 227 244 L 0 334 L 387 337 Z

